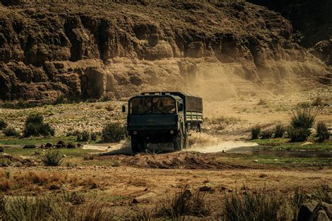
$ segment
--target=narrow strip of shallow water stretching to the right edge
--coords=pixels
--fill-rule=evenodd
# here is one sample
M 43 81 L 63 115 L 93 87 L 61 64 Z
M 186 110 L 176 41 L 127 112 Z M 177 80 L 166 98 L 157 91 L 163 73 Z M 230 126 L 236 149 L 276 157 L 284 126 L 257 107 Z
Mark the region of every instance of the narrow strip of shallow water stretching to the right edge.
M 300 158 L 330 158 L 332 152 L 317 151 L 289 151 L 289 150 L 260 150 L 257 148 L 233 148 L 228 150 L 229 153 L 240 153 L 247 155 L 264 155 L 268 157 L 300 157 Z

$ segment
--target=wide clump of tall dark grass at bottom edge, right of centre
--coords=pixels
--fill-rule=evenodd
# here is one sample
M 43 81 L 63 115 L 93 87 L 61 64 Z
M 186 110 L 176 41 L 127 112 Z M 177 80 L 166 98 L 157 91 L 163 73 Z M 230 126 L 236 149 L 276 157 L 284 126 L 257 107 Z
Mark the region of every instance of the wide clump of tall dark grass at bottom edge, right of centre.
M 225 198 L 225 220 L 278 220 L 280 199 L 266 190 L 257 193 L 235 192 Z

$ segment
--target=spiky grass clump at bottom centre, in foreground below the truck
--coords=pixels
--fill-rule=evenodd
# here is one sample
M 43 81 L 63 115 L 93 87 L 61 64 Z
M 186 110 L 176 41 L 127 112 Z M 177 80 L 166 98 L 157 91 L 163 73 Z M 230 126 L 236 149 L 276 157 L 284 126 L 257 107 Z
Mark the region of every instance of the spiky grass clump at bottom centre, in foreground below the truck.
M 157 216 L 160 218 L 178 218 L 180 215 L 205 216 L 210 208 L 205 201 L 205 194 L 191 192 L 187 187 L 172 197 L 160 201 Z

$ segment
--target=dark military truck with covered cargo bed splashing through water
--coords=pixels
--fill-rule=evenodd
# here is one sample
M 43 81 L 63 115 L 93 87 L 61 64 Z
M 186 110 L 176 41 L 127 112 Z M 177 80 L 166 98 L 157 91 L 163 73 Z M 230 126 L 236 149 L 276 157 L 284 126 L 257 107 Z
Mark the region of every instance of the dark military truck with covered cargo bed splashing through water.
M 200 131 L 202 111 L 202 98 L 184 92 L 144 92 L 132 97 L 127 112 L 132 152 L 146 150 L 148 143 L 186 148 L 188 131 Z

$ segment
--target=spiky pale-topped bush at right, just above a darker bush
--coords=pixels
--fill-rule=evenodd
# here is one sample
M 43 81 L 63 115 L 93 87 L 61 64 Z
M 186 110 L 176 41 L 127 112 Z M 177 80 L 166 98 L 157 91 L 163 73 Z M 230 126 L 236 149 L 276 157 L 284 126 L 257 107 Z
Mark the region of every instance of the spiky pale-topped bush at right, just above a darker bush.
M 310 109 L 292 111 L 291 127 L 309 129 L 314 125 L 315 117 Z

